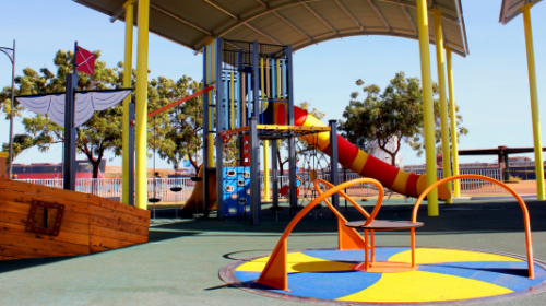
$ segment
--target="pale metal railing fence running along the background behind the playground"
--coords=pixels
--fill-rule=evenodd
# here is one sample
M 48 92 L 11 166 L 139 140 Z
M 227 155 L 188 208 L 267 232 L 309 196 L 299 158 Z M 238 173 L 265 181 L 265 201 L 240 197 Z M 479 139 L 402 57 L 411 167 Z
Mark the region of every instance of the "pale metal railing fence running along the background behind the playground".
M 483 175 L 497 180 L 502 180 L 500 169 L 462 169 L 461 174 L 476 174 Z M 443 178 L 443 170 L 438 170 L 438 178 Z M 346 179 L 345 179 L 346 176 Z M 304 184 L 300 188 L 300 197 L 305 197 L 313 187 L 309 174 L 299 174 Z M 329 180 L 330 174 L 319 174 L 318 178 Z M 344 183 L 360 177 L 356 173 L 341 173 L 339 181 Z M 283 186 L 289 185 L 289 177 L 287 175 L 278 176 L 278 189 Z M 55 188 L 62 188 L 62 178 L 54 179 L 17 179 L 29 184 L 43 185 Z M 270 181 L 273 179 L 270 177 Z M 260 177 L 261 193 L 263 198 L 263 176 Z M 147 179 L 147 197 L 159 198 L 163 202 L 178 202 L 189 199 L 195 185 L 189 177 L 181 178 L 149 178 Z M 173 187 L 180 187 L 181 191 L 175 192 Z M 76 178 L 75 191 L 96 195 L 103 198 L 121 198 L 122 193 L 122 179 L 121 178 Z M 494 185 L 484 180 L 476 179 L 462 179 L 461 192 L 463 193 L 501 193 L 503 189 L 500 186 Z M 369 185 L 356 185 L 346 189 L 346 193 L 354 197 L 369 197 L 377 196 L 377 189 Z

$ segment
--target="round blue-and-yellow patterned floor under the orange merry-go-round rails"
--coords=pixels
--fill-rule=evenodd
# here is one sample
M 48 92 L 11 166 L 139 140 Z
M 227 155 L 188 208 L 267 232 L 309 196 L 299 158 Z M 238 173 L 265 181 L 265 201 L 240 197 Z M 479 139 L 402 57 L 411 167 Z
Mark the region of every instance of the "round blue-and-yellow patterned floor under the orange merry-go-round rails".
M 364 250 L 305 249 L 288 254 L 288 289 L 254 281 L 269 257 L 238 260 L 222 268 L 223 281 L 269 297 L 312 303 L 369 305 L 453 305 L 494 302 L 546 291 L 546 262 L 535 259 L 535 280 L 525 257 L 477 249 L 417 247 L 417 269 L 397 273 L 355 270 Z M 376 261 L 411 263 L 410 247 L 377 247 Z

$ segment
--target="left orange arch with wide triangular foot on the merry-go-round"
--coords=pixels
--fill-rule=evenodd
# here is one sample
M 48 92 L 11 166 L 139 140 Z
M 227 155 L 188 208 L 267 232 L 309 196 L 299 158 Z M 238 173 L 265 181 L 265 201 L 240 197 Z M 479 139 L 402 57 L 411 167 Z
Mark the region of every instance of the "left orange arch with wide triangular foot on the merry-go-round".
M 287 268 L 286 268 L 286 257 L 287 257 L 287 249 L 288 249 L 288 235 L 290 235 L 292 231 L 298 224 L 298 222 L 317 204 L 320 202 L 324 201 L 328 197 L 331 197 L 334 193 L 339 193 L 342 189 L 345 189 L 347 187 L 358 185 L 358 184 L 373 184 L 379 190 L 380 197 L 378 198 L 378 201 L 381 202 L 383 200 L 383 186 L 372 179 L 372 178 L 357 178 L 353 179 L 343 184 L 340 184 L 337 186 L 332 187 L 331 189 L 324 191 L 322 195 L 320 195 L 318 198 L 312 200 L 309 204 L 307 204 L 294 219 L 290 221 L 288 226 L 286 226 L 286 229 L 283 233 L 283 236 L 281 236 L 281 239 L 278 240 L 277 245 L 275 246 L 275 249 L 271 254 L 270 259 L 268 260 L 268 263 L 265 264 L 265 268 L 263 269 L 262 273 L 260 274 L 260 278 L 258 279 L 258 283 L 272 286 L 275 289 L 288 290 L 288 273 L 287 273 Z M 343 191 L 342 191 L 343 192 Z M 345 195 L 346 196 L 346 195 Z M 335 213 L 337 216 L 343 215 L 330 203 L 328 207 L 332 210 L 333 213 Z

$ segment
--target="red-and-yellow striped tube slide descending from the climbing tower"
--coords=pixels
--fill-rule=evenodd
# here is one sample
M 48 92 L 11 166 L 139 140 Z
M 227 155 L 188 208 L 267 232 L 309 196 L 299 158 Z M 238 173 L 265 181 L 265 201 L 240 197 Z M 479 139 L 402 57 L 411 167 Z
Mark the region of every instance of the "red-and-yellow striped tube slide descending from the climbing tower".
M 285 125 L 284 103 L 274 103 L 273 108 L 274 123 Z M 294 106 L 294 125 L 304 127 L 327 126 L 311 114 L 308 114 L 307 110 L 297 106 Z M 321 132 L 318 136 L 309 134 L 301 137 L 301 139 L 330 155 L 330 132 Z M 426 174 L 416 175 L 393 167 L 359 150 L 355 144 L 341 136 L 337 136 L 337 156 L 343 167 L 347 167 L 363 177 L 375 178 L 384 187 L 401 195 L 417 198 L 427 188 Z M 451 198 L 451 193 L 446 185 L 438 187 L 438 198 L 442 200 Z

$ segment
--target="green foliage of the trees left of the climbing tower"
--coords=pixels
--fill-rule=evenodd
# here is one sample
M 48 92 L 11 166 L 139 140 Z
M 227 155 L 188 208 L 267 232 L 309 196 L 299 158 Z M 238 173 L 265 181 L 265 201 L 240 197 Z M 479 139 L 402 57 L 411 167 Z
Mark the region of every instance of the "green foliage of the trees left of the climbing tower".
M 78 90 L 106 90 L 122 87 L 123 63 L 108 68 L 105 61 L 98 60 L 100 51 L 96 50 L 95 74 L 88 75 L 78 72 Z M 22 76 L 15 78 L 16 95 L 57 93 L 64 92 L 66 75 L 73 71 L 73 52 L 59 50 L 54 59 L 57 73 L 47 68 L 40 69 L 39 73 L 31 68 L 23 70 Z M 149 71 L 150 72 L 150 71 Z M 131 71 L 131 87 L 135 87 L 135 70 Z M 159 76 L 149 82 L 149 111 L 158 109 L 181 97 L 188 96 L 189 91 L 199 91 L 201 84 L 189 76 L 182 76 L 178 81 Z M 2 110 L 9 113 L 9 95 L 11 89 L 7 87 L 0 93 L 0 105 Z M 134 91 L 131 96 L 134 102 Z M 7 106 L 8 105 L 8 106 Z M 193 153 L 194 146 L 200 148 L 201 141 L 197 137 L 201 126 L 202 114 L 201 98 L 193 98 L 179 108 L 164 111 L 154 119 L 149 120 L 147 143 L 152 150 L 156 150 L 159 156 L 167 158 L 169 163 L 178 166 L 178 162 L 186 153 Z M 15 114 L 22 116 L 24 109 L 15 102 Z M 195 117 L 194 109 L 199 111 Z M 79 153 L 87 156 L 93 165 L 93 176 L 98 176 L 98 165 L 105 152 L 110 151 L 116 156 L 122 154 L 122 103 L 106 110 L 96 111 L 84 125 L 76 128 L 76 149 Z M 36 146 L 40 152 L 47 152 L 51 144 L 63 142 L 63 127 L 49 120 L 47 116 L 34 115 L 23 118 L 24 134 L 14 136 L 14 156 L 26 149 Z M 155 133 L 154 133 L 155 132 Z M 154 141 L 154 137 L 156 138 Z M 8 148 L 8 144 L 3 144 Z M 197 167 L 195 163 L 192 163 Z

